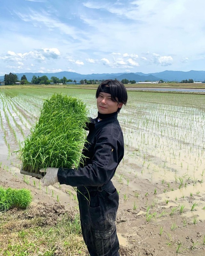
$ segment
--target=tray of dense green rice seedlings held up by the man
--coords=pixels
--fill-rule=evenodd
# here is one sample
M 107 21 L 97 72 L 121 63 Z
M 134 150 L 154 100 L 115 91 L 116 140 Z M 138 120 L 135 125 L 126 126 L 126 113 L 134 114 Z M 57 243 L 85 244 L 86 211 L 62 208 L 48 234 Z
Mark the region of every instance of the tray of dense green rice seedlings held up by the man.
M 42 178 L 40 169 L 77 167 L 83 160 L 87 121 L 86 104 L 80 99 L 61 94 L 46 99 L 20 150 L 20 173 Z

